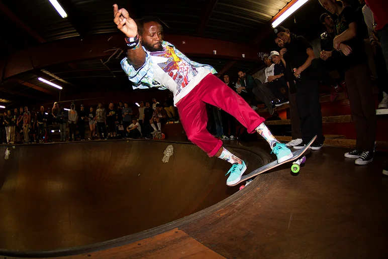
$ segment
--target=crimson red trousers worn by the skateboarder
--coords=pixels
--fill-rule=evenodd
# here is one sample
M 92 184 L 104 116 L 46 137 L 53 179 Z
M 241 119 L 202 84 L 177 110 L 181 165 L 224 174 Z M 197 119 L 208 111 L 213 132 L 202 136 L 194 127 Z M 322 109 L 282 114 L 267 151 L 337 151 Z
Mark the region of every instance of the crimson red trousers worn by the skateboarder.
M 231 114 L 247 128 L 249 133 L 254 132 L 255 128 L 265 121 L 224 82 L 212 74 L 207 75 L 178 101 L 176 107 L 187 138 L 205 151 L 209 157 L 216 155 L 223 143 L 214 138 L 206 128 L 208 114 L 205 103 L 217 106 Z

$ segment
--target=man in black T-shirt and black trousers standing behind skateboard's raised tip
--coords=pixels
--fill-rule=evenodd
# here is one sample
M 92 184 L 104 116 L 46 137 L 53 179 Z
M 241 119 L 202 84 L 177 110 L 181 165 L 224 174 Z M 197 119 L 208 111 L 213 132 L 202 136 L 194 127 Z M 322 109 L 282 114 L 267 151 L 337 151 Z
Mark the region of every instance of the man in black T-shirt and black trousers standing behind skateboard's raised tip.
M 294 70 L 292 77 L 287 77 L 288 82 L 296 84 L 297 103 L 301 118 L 301 131 L 303 142 L 294 146 L 295 149 L 303 149 L 311 139 L 317 135 L 317 139 L 311 145 L 312 150 L 322 148 L 325 137 L 322 134 L 322 113 L 319 102 L 319 88 L 317 76 L 311 67 L 315 58 L 313 47 L 302 36 L 290 33 L 282 26 L 275 28 L 275 34 L 284 42 L 286 52 L 285 63 L 289 64 L 286 69 Z

